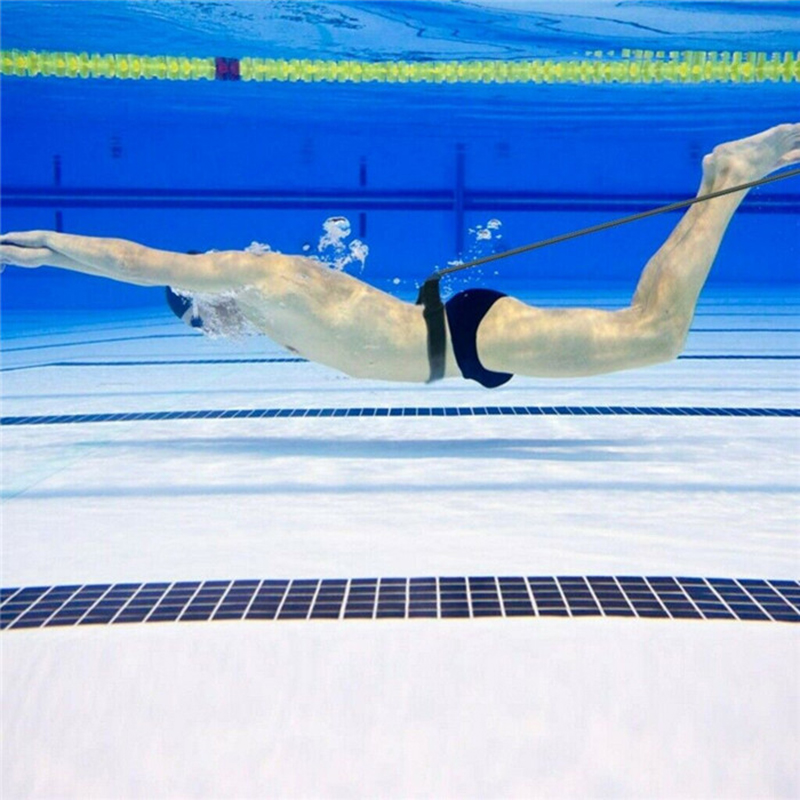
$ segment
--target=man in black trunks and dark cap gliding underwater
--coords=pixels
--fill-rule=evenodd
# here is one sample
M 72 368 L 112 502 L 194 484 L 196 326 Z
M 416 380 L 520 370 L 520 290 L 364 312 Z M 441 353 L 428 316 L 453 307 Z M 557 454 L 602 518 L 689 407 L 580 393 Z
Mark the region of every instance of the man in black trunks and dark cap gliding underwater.
M 800 123 L 719 145 L 703 159 L 699 194 L 738 186 L 800 162 Z M 734 211 L 746 191 L 689 208 L 646 264 L 619 311 L 546 309 L 487 289 L 447 301 L 444 377 L 499 386 L 513 374 L 564 378 L 676 358 Z M 0 237 L 0 262 L 49 265 L 141 286 L 171 286 L 192 324 L 192 293 L 235 303 L 248 323 L 306 358 L 356 378 L 422 383 L 432 374 L 423 307 L 303 256 L 242 251 L 188 255 L 123 239 L 51 231 Z M 195 324 L 202 324 L 196 321 Z

